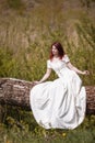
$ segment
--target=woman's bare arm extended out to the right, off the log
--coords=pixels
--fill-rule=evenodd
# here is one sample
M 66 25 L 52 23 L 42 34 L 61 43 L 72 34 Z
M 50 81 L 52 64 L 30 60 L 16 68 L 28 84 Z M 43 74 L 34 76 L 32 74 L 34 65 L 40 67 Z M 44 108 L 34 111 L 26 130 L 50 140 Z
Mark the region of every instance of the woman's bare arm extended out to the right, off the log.
M 71 70 L 74 70 L 74 72 L 78 73 L 78 74 L 81 74 L 81 75 L 88 75 L 88 74 L 90 74 L 88 70 L 82 72 L 82 70 L 78 69 L 78 68 L 74 67 L 70 62 L 67 63 L 67 65 L 68 65 L 68 67 L 69 67 Z

